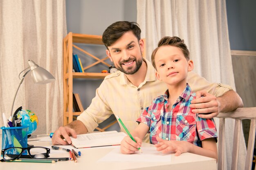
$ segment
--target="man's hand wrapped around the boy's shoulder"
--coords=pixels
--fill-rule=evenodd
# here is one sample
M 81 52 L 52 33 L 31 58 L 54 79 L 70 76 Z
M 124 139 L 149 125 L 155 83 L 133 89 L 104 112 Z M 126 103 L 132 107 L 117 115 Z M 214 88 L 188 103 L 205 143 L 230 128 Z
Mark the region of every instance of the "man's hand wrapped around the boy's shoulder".
M 216 96 L 203 90 L 196 92 L 196 99 L 191 101 L 190 107 L 195 108 L 192 110 L 193 113 L 203 113 L 198 116 L 205 119 L 214 118 L 220 112 L 220 102 Z

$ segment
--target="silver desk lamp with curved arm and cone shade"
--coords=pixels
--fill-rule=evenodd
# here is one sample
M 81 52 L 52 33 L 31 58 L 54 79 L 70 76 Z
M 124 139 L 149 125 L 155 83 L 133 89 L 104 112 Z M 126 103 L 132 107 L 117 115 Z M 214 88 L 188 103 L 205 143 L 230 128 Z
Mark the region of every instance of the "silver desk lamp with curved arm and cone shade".
M 16 94 L 15 94 L 15 96 L 13 98 L 13 103 L 12 103 L 12 107 L 11 107 L 12 118 L 13 118 L 13 113 L 12 113 L 13 105 L 14 105 L 14 101 L 15 101 L 16 95 L 18 93 L 18 90 L 20 88 L 21 83 L 23 82 L 25 76 L 29 72 L 31 72 L 31 76 L 32 76 L 33 81 L 34 81 L 35 84 L 47 84 L 47 83 L 51 83 L 51 82 L 53 82 L 55 80 L 54 76 L 52 76 L 51 73 L 49 73 L 44 68 L 39 67 L 34 61 L 29 60 L 28 63 L 29 63 L 29 67 L 22 71 L 22 72 L 26 71 L 25 74 L 22 76 L 22 78 L 20 78 L 20 74 L 22 72 L 20 72 L 20 74 L 19 74 L 20 84 L 19 84 L 18 89 L 16 91 Z

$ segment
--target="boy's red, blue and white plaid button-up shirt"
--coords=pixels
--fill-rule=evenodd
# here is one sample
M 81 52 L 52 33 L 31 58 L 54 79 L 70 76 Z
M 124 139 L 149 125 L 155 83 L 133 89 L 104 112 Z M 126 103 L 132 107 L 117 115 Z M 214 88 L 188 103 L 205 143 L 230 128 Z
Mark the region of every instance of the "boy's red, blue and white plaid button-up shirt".
M 157 144 L 156 137 L 165 140 L 184 140 L 202 147 L 202 140 L 218 137 L 213 119 L 202 119 L 192 113 L 189 105 L 195 98 L 189 85 L 173 104 L 171 111 L 167 110 L 169 92 L 155 98 L 152 104 L 145 108 L 137 122 L 143 122 L 150 127 L 150 143 Z

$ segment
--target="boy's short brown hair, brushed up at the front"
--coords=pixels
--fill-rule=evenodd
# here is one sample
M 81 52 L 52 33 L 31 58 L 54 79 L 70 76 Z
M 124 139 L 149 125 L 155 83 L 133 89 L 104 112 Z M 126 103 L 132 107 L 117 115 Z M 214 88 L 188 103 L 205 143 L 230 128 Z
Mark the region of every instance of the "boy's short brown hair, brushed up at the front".
M 155 54 L 161 46 L 174 46 L 174 47 L 180 48 L 182 50 L 186 60 L 189 61 L 189 50 L 188 50 L 186 44 L 184 44 L 184 39 L 180 39 L 179 37 L 166 36 L 166 37 L 163 37 L 162 39 L 160 39 L 157 48 L 155 48 L 155 50 L 153 50 L 152 55 L 151 55 L 151 62 L 155 69 L 156 69 Z

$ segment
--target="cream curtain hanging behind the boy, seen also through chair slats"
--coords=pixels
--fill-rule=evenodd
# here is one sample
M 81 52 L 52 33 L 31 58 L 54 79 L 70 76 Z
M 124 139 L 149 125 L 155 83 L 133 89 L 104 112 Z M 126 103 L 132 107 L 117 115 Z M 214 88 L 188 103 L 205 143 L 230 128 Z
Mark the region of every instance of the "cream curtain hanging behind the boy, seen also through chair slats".
M 137 0 L 137 22 L 146 38 L 147 59 L 164 36 L 184 39 L 197 72 L 210 82 L 235 89 L 225 0 Z M 219 121 L 216 118 L 217 130 Z M 226 120 L 225 165 L 231 169 L 234 121 Z M 240 141 L 239 169 L 245 167 L 246 146 Z

